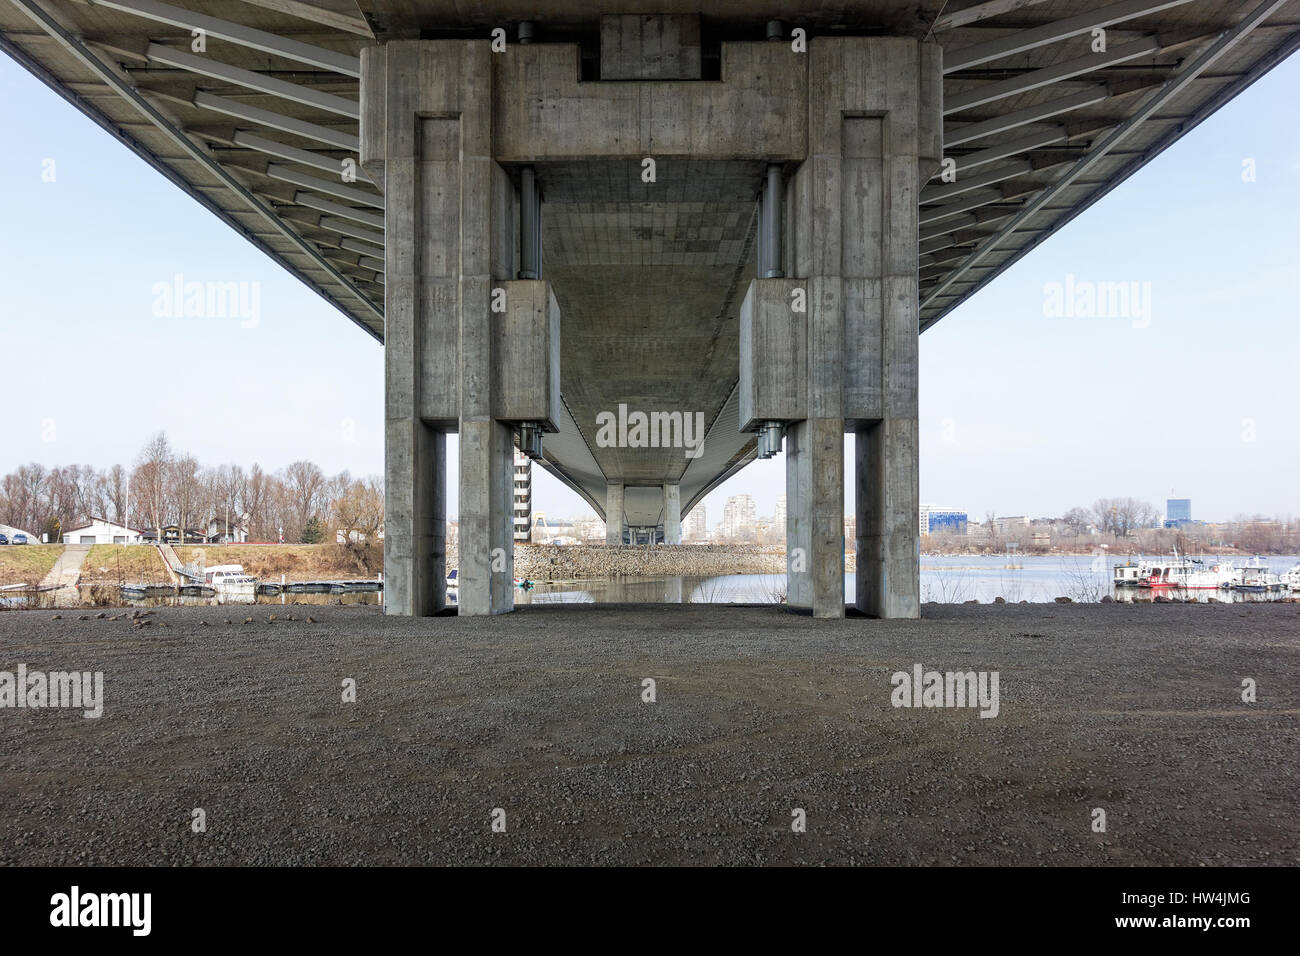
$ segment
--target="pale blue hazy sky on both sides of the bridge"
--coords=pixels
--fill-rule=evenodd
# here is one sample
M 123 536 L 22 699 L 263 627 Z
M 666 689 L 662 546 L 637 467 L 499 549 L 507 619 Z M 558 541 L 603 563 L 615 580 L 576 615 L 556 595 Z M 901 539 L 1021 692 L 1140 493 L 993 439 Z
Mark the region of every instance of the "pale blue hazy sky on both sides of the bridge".
M 1300 514 L 1296 90 L 1300 56 L 920 337 L 923 502 Z M 0 143 L 0 473 L 126 464 L 159 431 L 204 464 L 382 473 L 373 338 L 3 55 Z M 186 317 L 177 276 L 248 284 L 256 308 Z M 1101 282 L 1134 284 L 1134 306 L 1080 315 Z M 771 514 L 784 481 L 781 455 L 742 470 L 705 499 L 710 527 L 731 494 Z M 590 514 L 540 468 L 534 502 Z

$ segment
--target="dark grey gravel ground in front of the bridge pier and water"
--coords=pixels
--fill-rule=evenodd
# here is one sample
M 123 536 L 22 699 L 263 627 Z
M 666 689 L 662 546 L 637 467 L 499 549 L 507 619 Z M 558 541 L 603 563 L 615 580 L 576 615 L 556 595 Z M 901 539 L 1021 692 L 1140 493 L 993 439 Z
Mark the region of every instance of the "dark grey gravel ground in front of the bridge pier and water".
M 105 706 L 0 710 L 0 862 L 1300 862 L 1300 605 L 924 613 L 3 613 L 0 670 Z M 998 717 L 893 708 L 914 663 Z

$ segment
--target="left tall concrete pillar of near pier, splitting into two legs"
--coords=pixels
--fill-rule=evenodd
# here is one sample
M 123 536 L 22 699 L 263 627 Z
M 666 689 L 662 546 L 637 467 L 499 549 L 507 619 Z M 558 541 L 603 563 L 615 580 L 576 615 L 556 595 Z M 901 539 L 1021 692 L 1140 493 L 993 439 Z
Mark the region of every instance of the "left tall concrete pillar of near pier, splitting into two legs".
M 488 40 L 363 51 L 361 163 L 384 183 L 387 614 L 445 605 L 446 433 L 460 433 L 459 613 L 512 607 L 511 427 L 493 418 L 490 294 L 514 278 Z M 416 82 L 419 78 L 419 82 Z

